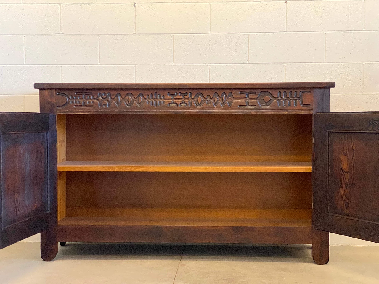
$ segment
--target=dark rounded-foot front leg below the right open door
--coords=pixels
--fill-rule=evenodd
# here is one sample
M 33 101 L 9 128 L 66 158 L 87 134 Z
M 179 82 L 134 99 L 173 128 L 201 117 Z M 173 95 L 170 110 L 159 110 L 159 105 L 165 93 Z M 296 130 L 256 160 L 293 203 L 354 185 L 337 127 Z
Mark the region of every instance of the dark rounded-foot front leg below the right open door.
M 312 257 L 316 264 L 329 262 L 329 232 L 312 229 Z

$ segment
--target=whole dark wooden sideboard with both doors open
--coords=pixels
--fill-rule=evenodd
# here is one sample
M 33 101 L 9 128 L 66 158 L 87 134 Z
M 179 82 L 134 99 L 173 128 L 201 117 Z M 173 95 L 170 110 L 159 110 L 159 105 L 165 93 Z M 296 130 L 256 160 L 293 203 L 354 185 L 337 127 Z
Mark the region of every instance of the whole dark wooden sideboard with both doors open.
M 379 113 L 330 113 L 333 82 L 34 86 L 0 114 L 0 248 L 379 242 Z

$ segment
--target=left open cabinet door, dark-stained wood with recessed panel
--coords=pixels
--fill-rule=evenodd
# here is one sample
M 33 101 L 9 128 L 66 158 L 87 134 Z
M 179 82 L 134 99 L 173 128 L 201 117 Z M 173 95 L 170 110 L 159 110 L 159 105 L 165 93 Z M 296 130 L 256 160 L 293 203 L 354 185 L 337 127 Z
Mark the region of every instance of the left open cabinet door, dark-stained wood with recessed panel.
M 0 248 L 56 225 L 55 115 L 0 112 Z

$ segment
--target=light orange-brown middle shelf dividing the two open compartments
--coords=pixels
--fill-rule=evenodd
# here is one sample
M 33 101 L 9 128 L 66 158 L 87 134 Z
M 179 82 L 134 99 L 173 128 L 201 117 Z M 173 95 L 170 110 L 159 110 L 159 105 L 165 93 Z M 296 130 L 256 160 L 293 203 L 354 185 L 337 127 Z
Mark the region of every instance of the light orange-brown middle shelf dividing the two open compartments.
M 59 172 L 312 172 L 311 162 L 66 161 Z

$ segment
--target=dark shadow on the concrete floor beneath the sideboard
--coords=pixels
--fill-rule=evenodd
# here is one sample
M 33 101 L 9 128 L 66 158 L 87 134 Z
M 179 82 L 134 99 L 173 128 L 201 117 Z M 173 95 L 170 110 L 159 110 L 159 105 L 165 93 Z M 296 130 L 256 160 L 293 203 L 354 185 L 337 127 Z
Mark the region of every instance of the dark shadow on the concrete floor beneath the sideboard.
M 312 262 L 310 245 L 67 243 L 56 259 L 176 259 Z

